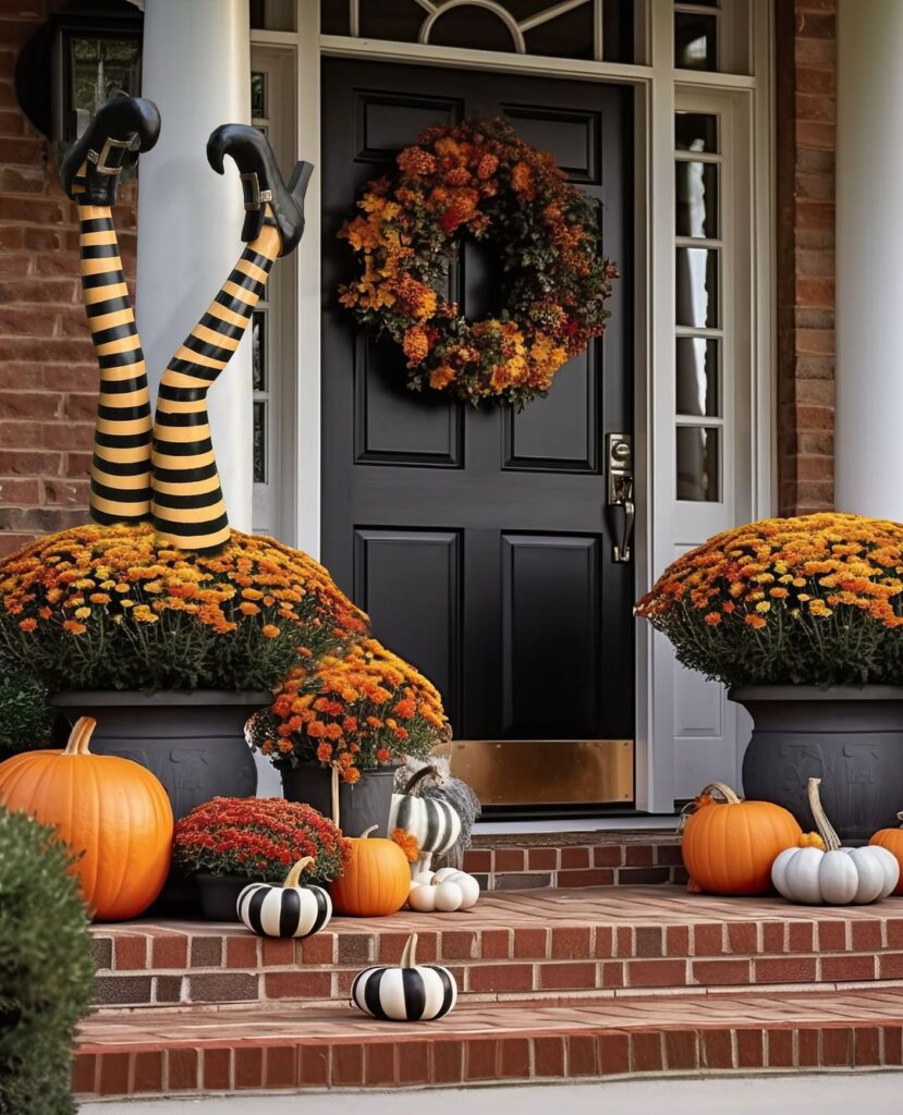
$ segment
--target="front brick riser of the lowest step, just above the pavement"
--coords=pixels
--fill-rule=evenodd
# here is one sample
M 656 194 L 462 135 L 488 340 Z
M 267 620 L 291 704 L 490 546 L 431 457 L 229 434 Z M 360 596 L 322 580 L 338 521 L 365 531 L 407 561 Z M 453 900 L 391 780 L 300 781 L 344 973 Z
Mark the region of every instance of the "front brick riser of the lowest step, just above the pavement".
M 315 1090 L 612 1079 L 703 1072 L 903 1067 L 899 1026 L 745 1026 L 582 1031 L 441 1041 L 428 1028 L 359 1040 L 253 1043 L 97 1053 L 76 1058 L 80 1098 L 198 1095 L 254 1088 Z

